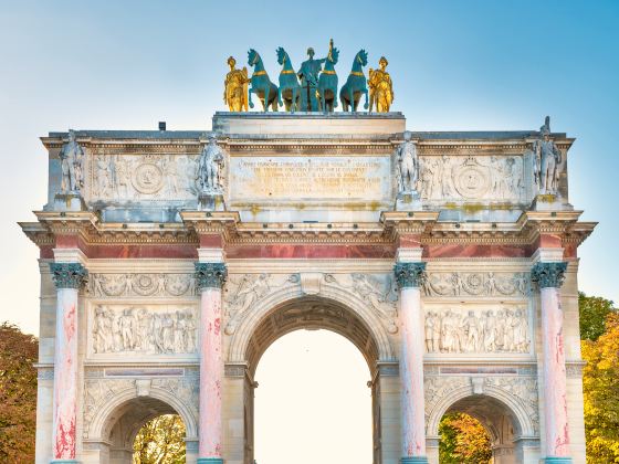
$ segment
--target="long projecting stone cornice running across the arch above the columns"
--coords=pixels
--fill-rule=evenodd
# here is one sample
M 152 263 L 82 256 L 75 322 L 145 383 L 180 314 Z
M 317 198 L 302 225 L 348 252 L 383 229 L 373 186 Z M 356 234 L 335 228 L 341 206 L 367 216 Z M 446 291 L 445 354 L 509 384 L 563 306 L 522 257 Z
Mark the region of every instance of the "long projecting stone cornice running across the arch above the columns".
M 200 235 L 218 235 L 225 244 L 395 245 L 417 235 L 421 245 L 532 245 L 543 234 L 579 245 L 596 222 L 578 222 L 580 211 L 524 212 L 516 222 L 438 222 L 438 211 L 382 212 L 377 223 L 241 222 L 238 212 L 182 211 L 182 223 L 102 223 L 94 212 L 35 212 L 39 222 L 20 223 L 39 246 L 59 235 L 76 235 L 86 245 L 157 244 L 198 246 Z

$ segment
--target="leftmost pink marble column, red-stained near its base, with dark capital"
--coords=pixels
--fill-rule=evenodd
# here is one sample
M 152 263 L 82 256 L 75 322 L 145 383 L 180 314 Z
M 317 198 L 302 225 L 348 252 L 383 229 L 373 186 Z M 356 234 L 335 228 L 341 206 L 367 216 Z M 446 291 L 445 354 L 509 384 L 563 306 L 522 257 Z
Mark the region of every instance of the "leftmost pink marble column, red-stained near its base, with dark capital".
M 77 296 L 87 273 L 78 263 L 52 263 L 51 271 L 57 289 L 52 462 L 71 463 L 76 462 Z

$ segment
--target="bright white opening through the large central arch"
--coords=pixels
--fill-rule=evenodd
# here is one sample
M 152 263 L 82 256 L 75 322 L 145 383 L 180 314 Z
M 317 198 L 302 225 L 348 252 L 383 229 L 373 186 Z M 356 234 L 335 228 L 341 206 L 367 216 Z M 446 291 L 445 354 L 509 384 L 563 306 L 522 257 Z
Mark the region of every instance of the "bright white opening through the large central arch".
M 359 350 L 329 330 L 275 340 L 255 373 L 258 463 L 373 462 L 369 369 Z

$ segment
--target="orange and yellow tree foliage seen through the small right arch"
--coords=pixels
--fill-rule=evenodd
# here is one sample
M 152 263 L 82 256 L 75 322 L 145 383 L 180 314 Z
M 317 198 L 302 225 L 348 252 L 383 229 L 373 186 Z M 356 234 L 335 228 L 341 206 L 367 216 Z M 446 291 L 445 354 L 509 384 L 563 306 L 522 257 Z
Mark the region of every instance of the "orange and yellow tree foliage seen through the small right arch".
M 441 464 L 486 464 L 492 458 L 487 431 L 469 414 L 450 412 L 443 415 L 439 433 Z

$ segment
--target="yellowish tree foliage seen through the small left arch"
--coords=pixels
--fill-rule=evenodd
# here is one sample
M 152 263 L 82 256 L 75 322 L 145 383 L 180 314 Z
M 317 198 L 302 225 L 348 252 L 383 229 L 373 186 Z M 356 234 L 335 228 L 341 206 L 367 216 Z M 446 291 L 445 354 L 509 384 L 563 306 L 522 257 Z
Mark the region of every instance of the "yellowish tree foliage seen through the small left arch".
M 185 463 L 185 434 L 179 415 L 164 414 L 148 421 L 134 441 L 134 464 Z

